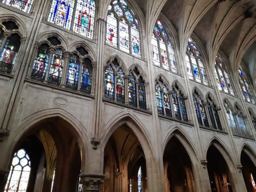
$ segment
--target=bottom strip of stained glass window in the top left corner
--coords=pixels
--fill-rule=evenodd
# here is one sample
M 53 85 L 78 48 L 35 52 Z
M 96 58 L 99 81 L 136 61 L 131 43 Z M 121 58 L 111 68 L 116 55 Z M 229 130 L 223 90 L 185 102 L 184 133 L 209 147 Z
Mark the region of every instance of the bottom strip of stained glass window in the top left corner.
M 19 9 L 23 12 L 29 13 L 33 0 L 3 0 L 3 4 Z

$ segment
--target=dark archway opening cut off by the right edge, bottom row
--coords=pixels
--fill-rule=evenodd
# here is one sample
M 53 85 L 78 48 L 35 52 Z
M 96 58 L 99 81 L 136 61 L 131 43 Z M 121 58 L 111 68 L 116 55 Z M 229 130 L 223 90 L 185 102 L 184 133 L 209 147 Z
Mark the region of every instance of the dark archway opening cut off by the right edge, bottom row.
M 256 167 L 244 150 L 241 152 L 241 164 L 247 191 L 256 192 Z

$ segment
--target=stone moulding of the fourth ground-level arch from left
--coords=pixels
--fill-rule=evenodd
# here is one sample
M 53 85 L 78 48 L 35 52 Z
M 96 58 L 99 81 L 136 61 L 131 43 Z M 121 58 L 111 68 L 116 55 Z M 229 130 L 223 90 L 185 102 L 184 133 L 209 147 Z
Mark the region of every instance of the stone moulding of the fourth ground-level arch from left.
M 232 154 L 231 151 L 228 149 L 227 145 L 221 139 L 215 136 L 213 136 L 212 138 L 209 138 L 205 144 L 205 147 L 204 147 L 205 159 L 206 159 L 207 151 L 211 145 L 216 147 L 218 151 L 221 153 L 221 155 L 223 156 L 223 158 L 225 159 L 228 165 L 229 171 L 233 172 L 234 170 L 236 170 L 235 163 L 231 157 L 231 154 Z

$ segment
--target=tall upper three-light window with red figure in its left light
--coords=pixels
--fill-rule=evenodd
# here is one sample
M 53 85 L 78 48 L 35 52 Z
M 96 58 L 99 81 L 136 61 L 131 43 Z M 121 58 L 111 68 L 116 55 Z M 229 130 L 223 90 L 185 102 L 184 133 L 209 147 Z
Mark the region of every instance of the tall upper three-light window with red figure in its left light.
M 138 19 L 125 0 L 110 3 L 106 25 L 106 43 L 141 57 L 140 31 Z

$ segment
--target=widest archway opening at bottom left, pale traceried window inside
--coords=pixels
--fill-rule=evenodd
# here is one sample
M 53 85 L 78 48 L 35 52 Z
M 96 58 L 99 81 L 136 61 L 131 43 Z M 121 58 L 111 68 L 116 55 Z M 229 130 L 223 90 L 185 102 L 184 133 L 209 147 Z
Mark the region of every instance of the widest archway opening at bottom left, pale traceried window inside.
M 30 174 L 27 178 L 21 174 L 19 178 L 20 181 L 27 179 L 25 191 L 77 191 L 81 169 L 81 154 L 77 139 L 74 128 L 60 117 L 47 118 L 32 126 L 13 150 L 14 157 L 20 149 L 24 149 L 29 156 Z M 12 159 L 11 172 L 14 164 Z M 55 175 L 54 181 L 53 175 Z M 19 190 L 21 184 L 12 188 L 13 183 L 10 183 L 9 178 L 5 191 Z

